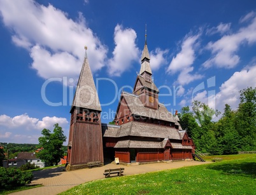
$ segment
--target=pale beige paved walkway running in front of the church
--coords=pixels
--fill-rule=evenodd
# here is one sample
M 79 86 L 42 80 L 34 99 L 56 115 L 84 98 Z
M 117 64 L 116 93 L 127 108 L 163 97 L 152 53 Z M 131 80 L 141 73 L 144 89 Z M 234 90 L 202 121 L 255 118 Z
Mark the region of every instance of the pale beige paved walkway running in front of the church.
M 201 161 L 175 161 L 174 163 L 152 163 L 145 165 L 115 165 L 113 163 L 96 168 L 85 168 L 75 171 L 64 171 L 64 167 L 51 168 L 48 170 L 34 171 L 34 178 L 31 184 L 43 184 L 43 187 L 36 187 L 25 191 L 15 192 L 12 194 L 59 194 L 67 191 L 76 185 L 83 184 L 92 180 L 108 179 L 104 178 L 104 170 L 110 168 L 124 167 L 124 175 L 134 175 L 159 170 L 169 170 L 181 168 L 183 166 L 203 165 L 210 162 Z M 114 176 L 114 175 L 113 175 Z

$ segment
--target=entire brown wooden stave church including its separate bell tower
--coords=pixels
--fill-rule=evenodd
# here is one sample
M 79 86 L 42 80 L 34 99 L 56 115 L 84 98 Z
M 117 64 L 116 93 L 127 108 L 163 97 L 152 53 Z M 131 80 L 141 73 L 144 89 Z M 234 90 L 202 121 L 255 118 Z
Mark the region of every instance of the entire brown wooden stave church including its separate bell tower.
M 85 51 L 70 111 L 66 169 L 101 166 L 106 158 L 118 158 L 120 163 L 192 159 L 192 138 L 182 130 L 177 112 L 173 116 L 159 103 L 158 94 L 145 39 L 133 92 L 122 92 L 115 125 L 101 124 L 101 105 Z

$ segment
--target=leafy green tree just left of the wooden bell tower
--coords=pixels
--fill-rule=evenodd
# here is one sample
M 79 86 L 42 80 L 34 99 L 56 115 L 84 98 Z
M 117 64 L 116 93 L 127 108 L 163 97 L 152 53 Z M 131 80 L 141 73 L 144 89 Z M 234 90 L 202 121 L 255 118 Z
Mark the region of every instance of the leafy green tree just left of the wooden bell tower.
M 39 137 L 39 145 L 43 150 L 38 153 L 38 157 L 48 166 L 57 165 L 60 158 L 64 156 L 62 149 L 63 142 L 66 141 L 66 136 L 63 134 L 62 128 L 58 123 L 54 124 L 53 133 L 50 130 L 43 129 Z

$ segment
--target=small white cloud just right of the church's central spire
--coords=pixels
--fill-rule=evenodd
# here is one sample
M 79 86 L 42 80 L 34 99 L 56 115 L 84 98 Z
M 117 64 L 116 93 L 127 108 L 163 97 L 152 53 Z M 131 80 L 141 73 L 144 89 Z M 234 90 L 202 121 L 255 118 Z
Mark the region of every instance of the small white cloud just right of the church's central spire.
M 167 55 L 168 51 L 169 50 L 161 50 L 160 48 L 156 48 L 155 51 L 150 51 L 150 67 L 152 70 L 157 70 L 167 63 L 165 55 Z

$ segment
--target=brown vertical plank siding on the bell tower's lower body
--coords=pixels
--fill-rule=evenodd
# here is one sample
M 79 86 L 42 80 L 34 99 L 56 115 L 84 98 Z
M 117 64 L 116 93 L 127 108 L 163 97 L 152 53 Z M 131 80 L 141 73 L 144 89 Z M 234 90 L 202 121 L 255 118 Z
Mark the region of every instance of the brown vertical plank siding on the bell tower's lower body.
M 69 163 L 81 165 L 94 161 L 104 161 L 101 124 L 76 122 Z

